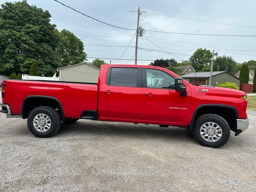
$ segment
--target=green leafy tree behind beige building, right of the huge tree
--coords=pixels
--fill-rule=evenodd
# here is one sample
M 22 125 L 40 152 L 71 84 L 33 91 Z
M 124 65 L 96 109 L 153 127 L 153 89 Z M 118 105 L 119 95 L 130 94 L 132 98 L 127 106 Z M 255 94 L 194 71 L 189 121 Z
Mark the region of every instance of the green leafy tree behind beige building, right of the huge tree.
M 66 29 L 57 33 L 60 37 L 57 53 L 61 61 L 61 66 L 65 67 L 84 62 L 87 54 L 84 52 L 83 42 Z

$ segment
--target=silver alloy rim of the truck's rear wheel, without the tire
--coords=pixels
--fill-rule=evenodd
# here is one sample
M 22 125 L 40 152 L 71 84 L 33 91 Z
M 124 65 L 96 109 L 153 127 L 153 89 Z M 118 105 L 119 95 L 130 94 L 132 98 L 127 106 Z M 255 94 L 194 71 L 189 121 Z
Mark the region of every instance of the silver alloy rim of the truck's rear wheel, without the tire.
M 33 125 L 39 132 L 46 132 L 50 129 L 51 120 L 46 114 L 40 113 L 34 117 Z

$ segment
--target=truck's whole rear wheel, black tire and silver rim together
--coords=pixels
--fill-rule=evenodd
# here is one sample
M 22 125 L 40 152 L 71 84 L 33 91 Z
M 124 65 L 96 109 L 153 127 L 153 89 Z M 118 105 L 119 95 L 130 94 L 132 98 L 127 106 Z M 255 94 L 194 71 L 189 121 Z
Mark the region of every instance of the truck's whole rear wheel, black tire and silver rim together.
M 60 129 L 60 115 L 49 106 L 40 106 L 33 109 L 28 115 L 28 129 L 37 137 L 50 137 Z

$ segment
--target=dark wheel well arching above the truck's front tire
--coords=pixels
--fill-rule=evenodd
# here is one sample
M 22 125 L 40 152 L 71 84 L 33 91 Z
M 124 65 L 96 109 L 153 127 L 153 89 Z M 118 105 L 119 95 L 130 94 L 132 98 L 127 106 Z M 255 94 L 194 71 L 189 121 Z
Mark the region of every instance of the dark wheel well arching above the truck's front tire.
M 221 116 L 222 118 L 224 118 L 226 120 L 226 122 L 228 123 L 230 130 L 236 132 L 237 129 L 237 122 L 236 119 L 238 118 L 238 114 L 235 111 L 235 109 L 233 108 L 228 108 L 228 107 L 221 107 L 221 106 L 205 106 L 205 107 L 201 107 L 197 112 L 196 115 L 194 115 L 194 120 L 192 122 L 192 124 L 194 124 L 194 122 L 196 121 L 196 119 L 198 117 L 200 117 L 203 114 L 216 114 Z

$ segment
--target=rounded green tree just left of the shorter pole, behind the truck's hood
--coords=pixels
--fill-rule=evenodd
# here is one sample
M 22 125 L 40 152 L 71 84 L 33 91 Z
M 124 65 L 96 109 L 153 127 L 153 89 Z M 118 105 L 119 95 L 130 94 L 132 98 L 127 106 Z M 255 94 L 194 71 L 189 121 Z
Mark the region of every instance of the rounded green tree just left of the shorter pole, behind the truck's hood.
M 218 55 L 217 53 L 214 55 Z M 209 65 L 212 59 L 212 52 L 206 49 L 197 49 L 194 54 L 189 58 L 192 67 L 196 71 L 202 70 L 206 65 Z

